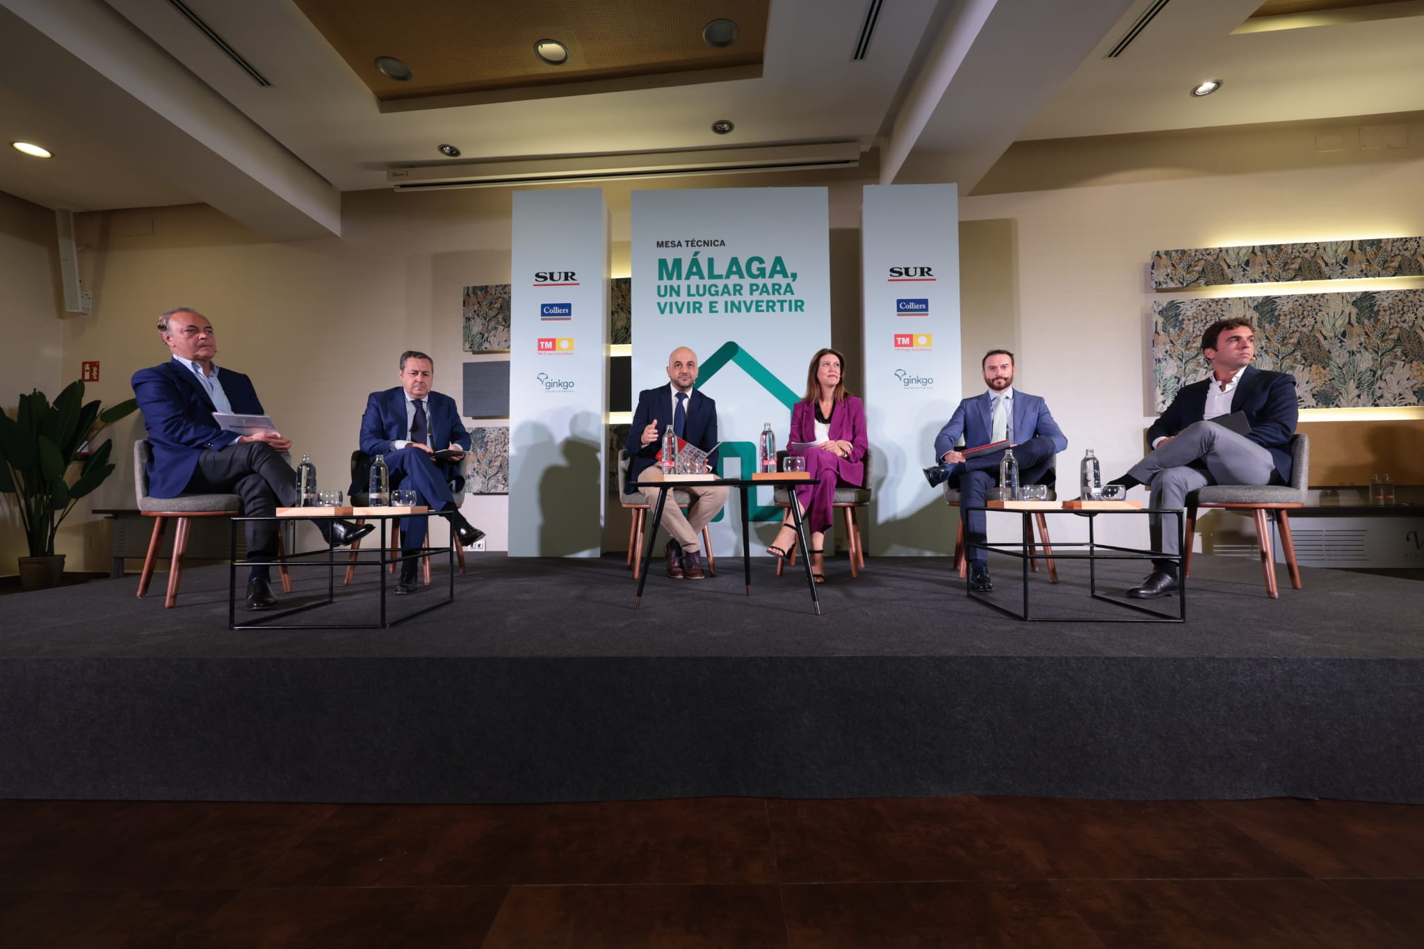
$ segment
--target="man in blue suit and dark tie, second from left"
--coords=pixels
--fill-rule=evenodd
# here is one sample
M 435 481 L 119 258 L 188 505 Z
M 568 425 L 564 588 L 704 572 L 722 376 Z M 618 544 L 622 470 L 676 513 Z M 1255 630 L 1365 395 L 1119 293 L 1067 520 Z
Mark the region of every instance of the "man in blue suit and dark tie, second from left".
M 372 393 L 366 400 L 366 413 L 360 418 L 360 450 L 372 460 L 386 457 L 390 470 L 390 487 L 413 488 L 416 504 L 427 505 L 450 519 L 463 546 L 484 536 L 484 531 L 473 526 L 460 514 L 451 482 L 459 487 L 460 460 L 470 450 L 470 433 L 460 423 L 460 410 L 454 400 L 441 393 L 430 391 L 434 380 L 434 360 L 416 350 L 400 354 L 400 386 L 382 393 Z M 444 460 L 437 460 L 437 451 L 456 451 Z M 369 487 L 369 470 L 356 472 L 352 492 Z M 403 553 L 412 553 L 426 545 L 426 518 L 402 518 L 400 545 Z M 397 593 L 414 593 L 416 561 L 400 563 Z

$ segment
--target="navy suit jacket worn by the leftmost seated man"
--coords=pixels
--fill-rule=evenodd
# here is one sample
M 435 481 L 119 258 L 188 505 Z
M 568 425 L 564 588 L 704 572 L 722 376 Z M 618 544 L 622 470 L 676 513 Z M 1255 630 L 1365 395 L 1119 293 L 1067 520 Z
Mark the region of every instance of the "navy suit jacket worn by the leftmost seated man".
M 242 415 L 263 415 L 262 403 L 252 388 L 252 380 L 231 369 L 218 369 L 218 381 Z M 208 390 L 187 366 L 168 360 L 152 369 L 134 373 L 130 383 L 138 408 L 144 413 L 152 461 L 148 464 L 148 494 L 155 498 L 177 498 L 188 488 L 198 467 L 198 455 L 205 450 L 226 448 L 238 440 L 212 421 L 216 407 Z

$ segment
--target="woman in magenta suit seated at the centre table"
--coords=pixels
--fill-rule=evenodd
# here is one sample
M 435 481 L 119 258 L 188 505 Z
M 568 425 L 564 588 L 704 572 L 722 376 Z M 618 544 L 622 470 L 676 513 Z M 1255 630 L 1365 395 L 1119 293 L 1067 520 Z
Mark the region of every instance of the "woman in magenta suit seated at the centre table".
M 826 531 L 830 529 L 836 499 L 836 485 L 863 487 L 866 477 L 866 407 L 846 391 L 843 371 L 846 357 L 833 349 L 823 349 L 810 360 L 806 371 L 806 396 L 792 408 L 792 434 L 786 442 L 815 442 L 803 454 L 806 471 L 820 484 L 796 487 L 806 526 L 810 528 L 812 576 L 823 583 L 822 549 Z M 782 529 L 772 546 L 773 556 L 787 556 L 796 542 L 796 529 L 790 511 L 782 521 Z

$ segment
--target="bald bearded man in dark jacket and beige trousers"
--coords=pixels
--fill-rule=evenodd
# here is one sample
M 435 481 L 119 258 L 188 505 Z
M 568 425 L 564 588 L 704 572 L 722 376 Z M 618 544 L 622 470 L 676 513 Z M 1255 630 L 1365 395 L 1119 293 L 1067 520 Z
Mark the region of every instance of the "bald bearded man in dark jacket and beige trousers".
M 632 425 L 628 427 L 628 482 L 634 482 L 639 475 L 656 464 L 658 448 L 662 435 L 672 425 L 678 438 L 708 451 L 718 444 L 716 437 L 716 403 L 708 396 L 692 388 L 698 381 L 698 356 L 682 346 L 668 356 L 668 386 L 645 388 L 638 393 L 638 408 L 632 414 Z M 708 457 L 708 465 L 716 467 L 713 451 Z M 668 541 L 668 576 L 674 579 L 701 580 L 706 576 L 702 569 L 702 528 L 705 528 L 716 512 L 726 504 L 728 488 L 711 484 L 689 484 L 681 488 L 692 497 L 688 514 L 675 504 L 662 508 L 662 526 L 672 535 Z M 634 494 L 639 488 L 632 488 Z M 656 488 L 641 488 L 648 504 L 656 504 Z M 656 532 L 654 524 L 649 531 Z

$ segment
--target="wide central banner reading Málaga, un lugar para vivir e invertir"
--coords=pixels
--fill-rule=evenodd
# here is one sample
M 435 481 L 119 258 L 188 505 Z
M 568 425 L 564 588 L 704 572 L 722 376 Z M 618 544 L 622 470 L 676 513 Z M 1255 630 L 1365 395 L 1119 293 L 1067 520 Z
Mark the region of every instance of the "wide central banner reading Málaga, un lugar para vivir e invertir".
M 829 242 L 824 188 L 632 192 L 632 387 L 668 386 L 668 356 L 691 347 L 725 475 L 755 471 L 765 423 L 786 447 L 810 357 L 830 346 Z M 780 519 L 770 488 L 750 498 L 753 521 Z M 739 504 L 733 491 L 712 525 L 719 553 L 742 551 Z

